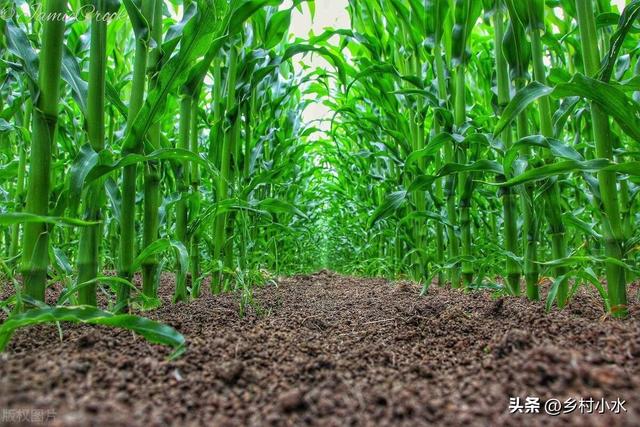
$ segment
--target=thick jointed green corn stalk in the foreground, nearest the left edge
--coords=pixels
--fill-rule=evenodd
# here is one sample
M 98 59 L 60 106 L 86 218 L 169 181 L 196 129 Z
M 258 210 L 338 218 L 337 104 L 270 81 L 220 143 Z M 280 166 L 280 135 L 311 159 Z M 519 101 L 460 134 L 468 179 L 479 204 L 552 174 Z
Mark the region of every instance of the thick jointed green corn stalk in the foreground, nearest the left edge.
M 66 0 L 44 1 L 47 16 L 64 17 Z M 51 152 L 56 140 L 60 70 L 64 47 L 64 18 L 47 19 L 42 24 L 42 48 L 38 69 L 39 96 L 33 111 L 29 185 L 25 211 L 49 214 L 51 193 Z M 44 301 L 49 267 L 49 227 L 27 223 L 24 227 L 22 277 L 25 294 Z

